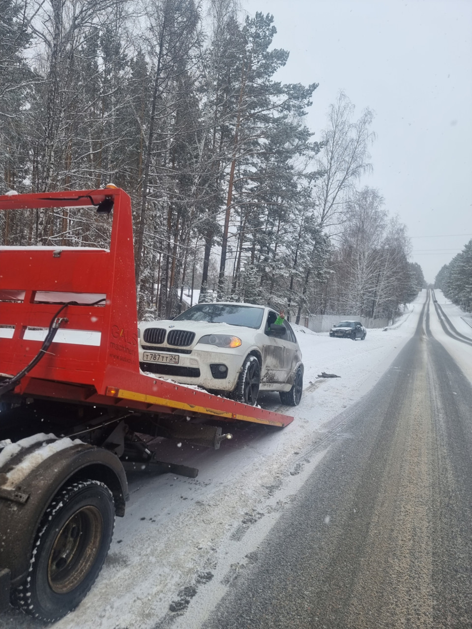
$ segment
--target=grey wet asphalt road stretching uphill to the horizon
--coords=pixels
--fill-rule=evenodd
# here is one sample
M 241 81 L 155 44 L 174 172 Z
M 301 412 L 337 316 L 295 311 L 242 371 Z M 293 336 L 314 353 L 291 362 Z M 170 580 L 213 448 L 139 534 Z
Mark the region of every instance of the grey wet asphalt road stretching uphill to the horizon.
M 472 386 L 429 304 L 205 629 L 472 627 Z

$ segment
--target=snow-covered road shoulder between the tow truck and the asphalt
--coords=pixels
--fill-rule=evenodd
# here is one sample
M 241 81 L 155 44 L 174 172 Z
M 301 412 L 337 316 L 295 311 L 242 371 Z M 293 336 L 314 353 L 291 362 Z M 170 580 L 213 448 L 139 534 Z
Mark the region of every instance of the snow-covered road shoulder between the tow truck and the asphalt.
M 278 519 L 322 457 L 313 457 L 329 422 L 361 398 L 412 337 L 426 293 L 388 330 L 365 341 L 296 330 L 305 364 L 300 406 L 282 407 L 277 394 L 262 406 L 295 415 L 284 430 L 238 423 L 220 450 L 167 444 L 163 460 L 199 468 L 196 479 L 130 477 L 126 516 L 116 521 L 110 555 L 91 593 L 57 629 L 197 629 L 224 594 L 247 555 Z M 339 378 L 318 379 L 322 371 Z M 33 626 L 20 613 L 1 621 Z

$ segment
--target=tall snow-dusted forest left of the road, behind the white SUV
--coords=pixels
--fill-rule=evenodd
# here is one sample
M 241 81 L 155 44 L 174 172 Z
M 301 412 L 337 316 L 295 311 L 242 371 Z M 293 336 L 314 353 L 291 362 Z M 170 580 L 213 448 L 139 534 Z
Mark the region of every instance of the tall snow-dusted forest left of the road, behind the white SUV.
M 0 0 L 0 194 L 130 194 L 140 318 L 200 301 L 394 316 L 424 285 L 371 169 L 372 113 L 275 76 L 270 15 L 233 0 Z M 314 139 L 316 138 L 316 140 Z M 103 245 L 93 211 L 3 213 L 8 245 Z M 196 293 L 195 293 L 196 294 Z

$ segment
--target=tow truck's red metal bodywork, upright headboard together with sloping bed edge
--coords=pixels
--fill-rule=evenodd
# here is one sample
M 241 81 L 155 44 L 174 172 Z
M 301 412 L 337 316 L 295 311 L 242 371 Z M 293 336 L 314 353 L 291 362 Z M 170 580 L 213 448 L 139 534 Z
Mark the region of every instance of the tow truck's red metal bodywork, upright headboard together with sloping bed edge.
M 138 364 L 136 286 L 132 214 L 129 196 L 120 189 L 50 192 L 0 197 L 0 211 L 89 206 L 113 197 L 110 250 L 53 247 L 0 247 L 0 299 L 12 291 L 13 302 L 0 301 L 0 325 L 14 325 L 13 338 L 0 338 L 0 372 L 16 374 L 37 354 L 41 342 L 26 340 L 28 326 L 45 328 L 60 308 L 35 303 L 37 291 L 106 294 L 104 306 L 67 306 L 64 330 L 101 333 L 99 347 L 53 342 L 48 354 L 18 384 L 21 394 L 70 401 L 120 404 L 136 409 L 186 409 L 191 414 L 231 420 L 287 425 L 292 417 L 153 379 L 140 374 Z M 60 249 L 60 247 L 58 247 Z M 23 301 L 21 292 L 25 291 Z M 71 385 L 80 386 L 71 386 Z M 110 391 L 119 391 L 121 399 Z M 149 399 L 147 399 L 149 398 Z

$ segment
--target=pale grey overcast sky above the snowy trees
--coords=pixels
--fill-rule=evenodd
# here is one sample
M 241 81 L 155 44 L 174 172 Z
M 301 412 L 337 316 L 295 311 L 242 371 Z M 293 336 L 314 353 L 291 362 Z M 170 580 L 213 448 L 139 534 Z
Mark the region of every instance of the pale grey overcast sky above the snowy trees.
M 277 79 L 319 83 L 307 124 L 319 138 L 344 90 L 374 111 L 373 174 L 433 282 L 472 238 L 472 0 L 242 0 L 271 13 Z

